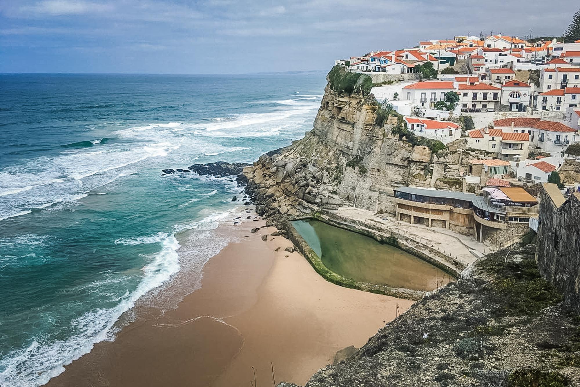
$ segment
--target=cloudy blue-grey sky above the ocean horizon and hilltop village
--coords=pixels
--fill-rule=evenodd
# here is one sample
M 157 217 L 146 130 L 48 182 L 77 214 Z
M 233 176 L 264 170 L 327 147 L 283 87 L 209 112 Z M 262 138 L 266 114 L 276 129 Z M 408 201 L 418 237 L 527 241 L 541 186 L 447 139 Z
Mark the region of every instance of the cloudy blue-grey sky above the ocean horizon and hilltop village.
M 326 71 L 419 40 L 561 35 L 577 0 L 0 0 L 0 73 Z

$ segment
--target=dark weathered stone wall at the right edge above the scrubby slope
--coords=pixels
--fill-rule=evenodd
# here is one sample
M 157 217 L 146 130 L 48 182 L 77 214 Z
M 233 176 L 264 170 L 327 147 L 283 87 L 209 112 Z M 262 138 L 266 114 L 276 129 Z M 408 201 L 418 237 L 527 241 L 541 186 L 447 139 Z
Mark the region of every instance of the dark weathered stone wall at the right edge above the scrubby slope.
M 536 261 L 542 275 L 580 313 L 580 198 L 557 206 L 541 192 Z

